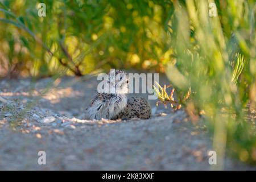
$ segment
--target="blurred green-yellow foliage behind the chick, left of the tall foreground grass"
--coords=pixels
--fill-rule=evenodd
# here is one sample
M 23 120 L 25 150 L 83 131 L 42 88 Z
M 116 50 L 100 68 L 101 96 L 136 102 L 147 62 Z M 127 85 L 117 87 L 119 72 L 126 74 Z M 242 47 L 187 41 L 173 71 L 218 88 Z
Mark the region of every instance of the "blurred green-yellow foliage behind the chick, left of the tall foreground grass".
M 131 67 L 164 71 L 168 1 L 40 1 L 46 17 L 38 16 L 39 1 L 0 2 L 2 76 L 51 76 L 61 67 L 69 68 L 68 75 Z

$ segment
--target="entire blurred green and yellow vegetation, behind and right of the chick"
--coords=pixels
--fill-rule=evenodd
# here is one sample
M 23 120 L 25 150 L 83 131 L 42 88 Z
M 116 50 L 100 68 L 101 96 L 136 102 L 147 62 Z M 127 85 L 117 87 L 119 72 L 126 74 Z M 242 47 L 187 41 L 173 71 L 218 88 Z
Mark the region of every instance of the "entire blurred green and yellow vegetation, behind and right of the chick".
M 165 73 L 218 160 L 255 164 L 255 12 L 254 0 L 0 0 L 0 77 Z

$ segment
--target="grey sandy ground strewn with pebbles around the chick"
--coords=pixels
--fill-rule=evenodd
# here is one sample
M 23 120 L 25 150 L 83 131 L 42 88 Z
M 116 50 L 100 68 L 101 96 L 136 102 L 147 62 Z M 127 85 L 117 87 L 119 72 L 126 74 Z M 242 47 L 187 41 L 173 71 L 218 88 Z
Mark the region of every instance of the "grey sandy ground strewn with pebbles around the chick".
M 84 120 L 97 79 L 59 78 L 41 95 L 50 78 L 0 80 L 0 169 L 39 170 L 209 170 L 212 138 L 183 110 L 163 106 L 150 119 Z M 163 76 L 160 82 L 168 82 Z M 31 91 L 31 88 L 32 89 Z M 143 95 L 147 98 L 147 95 Z M 46 152 L 46 165 L 38 152 Z M 225 159 L 225 169 L 253 166 Z

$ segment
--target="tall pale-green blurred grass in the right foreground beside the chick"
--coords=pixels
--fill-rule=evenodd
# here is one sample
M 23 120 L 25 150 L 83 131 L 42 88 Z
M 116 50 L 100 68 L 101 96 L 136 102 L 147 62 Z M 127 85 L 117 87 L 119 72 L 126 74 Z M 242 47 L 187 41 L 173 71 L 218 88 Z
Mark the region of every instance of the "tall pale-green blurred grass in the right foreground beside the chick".
M 256 163 L 255 115 L 245 119 L 256 102 L 256 3 L 215 1 L 210 16 L 210 2 L 174 1 L 166 73 L 180 98 L 189 88 L 196 92 L 185 105 L 192 119 L 204 113 L 210 121 L 219 169 L 226 152 Z

